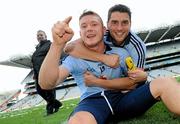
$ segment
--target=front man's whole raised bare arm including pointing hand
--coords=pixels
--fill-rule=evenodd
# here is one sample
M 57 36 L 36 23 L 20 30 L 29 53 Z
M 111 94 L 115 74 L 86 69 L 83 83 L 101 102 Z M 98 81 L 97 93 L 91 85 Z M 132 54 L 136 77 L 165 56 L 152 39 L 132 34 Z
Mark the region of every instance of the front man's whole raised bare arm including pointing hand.
M 53 42 L 39 73 L 39 84 L 43 89 L 54 88 L 69 75 L 67 69 L 59 67 L 59 60 L 66 42 L 71 40 L 74 34 L 69 27 L 70 20 L 71 17 L 68 17 L 62 22 L 59 21 L 52 28 Z

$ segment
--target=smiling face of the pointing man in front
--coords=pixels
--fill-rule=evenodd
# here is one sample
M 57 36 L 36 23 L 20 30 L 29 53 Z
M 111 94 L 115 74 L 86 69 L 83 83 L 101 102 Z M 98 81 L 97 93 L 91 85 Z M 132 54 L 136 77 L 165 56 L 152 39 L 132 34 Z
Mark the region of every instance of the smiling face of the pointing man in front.
M 79 25 L 80 35 L 86 47 L 93 48 L 103 43 L 106 29 L 99 16 L 95 14 L 84 15 L 80 18 Z

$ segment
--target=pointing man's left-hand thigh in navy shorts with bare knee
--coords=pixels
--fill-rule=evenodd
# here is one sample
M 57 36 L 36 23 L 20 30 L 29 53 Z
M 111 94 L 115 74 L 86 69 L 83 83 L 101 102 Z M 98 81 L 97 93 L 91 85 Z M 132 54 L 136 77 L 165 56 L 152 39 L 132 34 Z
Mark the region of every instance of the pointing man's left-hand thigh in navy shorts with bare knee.
M 111 110 L 100 93 L 82 100 L 71 113 L 68 124 L 105 124 Z

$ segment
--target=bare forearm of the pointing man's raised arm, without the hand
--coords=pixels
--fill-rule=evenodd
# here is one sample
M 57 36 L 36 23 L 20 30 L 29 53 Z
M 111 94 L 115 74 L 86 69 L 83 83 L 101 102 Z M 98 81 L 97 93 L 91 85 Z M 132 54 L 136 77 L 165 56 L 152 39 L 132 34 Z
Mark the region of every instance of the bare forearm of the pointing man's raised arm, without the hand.
M 43 89 L 52 89 L 56 86 L 59 77 L 59 60 L 64 45 L 51 44 L 39 73 L 39 84 Z

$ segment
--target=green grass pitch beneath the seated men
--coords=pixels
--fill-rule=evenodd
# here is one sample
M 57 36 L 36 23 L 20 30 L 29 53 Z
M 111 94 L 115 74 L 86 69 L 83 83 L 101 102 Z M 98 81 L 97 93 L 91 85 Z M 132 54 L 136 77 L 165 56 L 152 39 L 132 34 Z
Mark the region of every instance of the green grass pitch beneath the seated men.
M 14 112 L 1 113 L 1 124 L 66 124 L 66 120 L 79 99 L 63 102 L 63 108 L 57 113 L 44 116 L 45 106 L 34 107 Z M 162 102 L 155 104 L 143 116 L 121 121 L 123 124 L 179 124 L 180 117 L 170 113 Z

